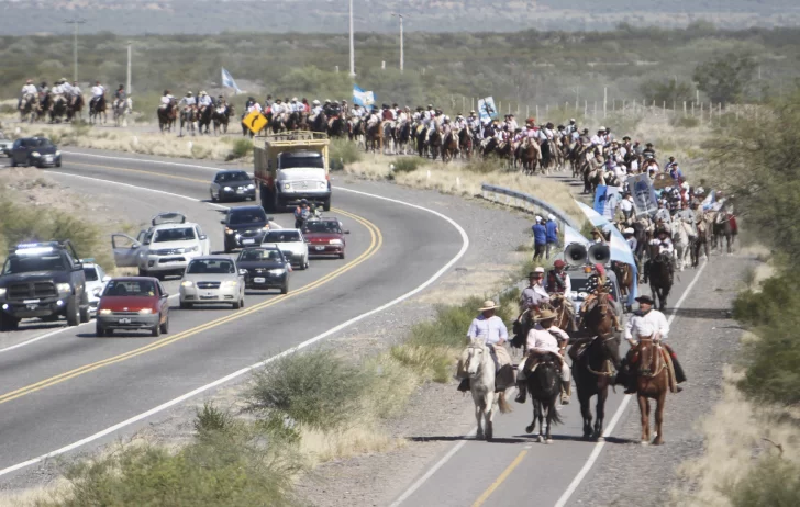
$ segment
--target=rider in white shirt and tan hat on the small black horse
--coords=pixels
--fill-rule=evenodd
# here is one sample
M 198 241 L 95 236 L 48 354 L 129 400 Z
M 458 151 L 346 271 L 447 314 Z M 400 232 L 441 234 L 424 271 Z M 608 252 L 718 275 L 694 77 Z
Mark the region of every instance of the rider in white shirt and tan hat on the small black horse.
M 519 368 L 516 372 L 516 388 L 520 391 L 516 395 L 516 403 L 525 403 L 527 395 L 527 382 L 525 382 L 525 379 L 538 360 L 547 353 L 553 353 L 560 361 L 562 405 L 569 403 L 569 367 L 564 359 L 564 351 L 567 349 L 567 343 L 569 343 L 569 335 L 554 326 L 556 317 L 557 315 L 554 312 L 545 309 L 534 318 L 536 324 L 527 331 L 527 338 L 525 340 L 527 356 L 525 361 L 520 363 L 522 368 Z

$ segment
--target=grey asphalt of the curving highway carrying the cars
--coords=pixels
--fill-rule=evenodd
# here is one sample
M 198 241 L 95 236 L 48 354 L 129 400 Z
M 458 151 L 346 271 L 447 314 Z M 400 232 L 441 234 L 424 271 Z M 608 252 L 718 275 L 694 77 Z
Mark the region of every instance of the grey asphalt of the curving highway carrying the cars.
M 221 248 L 220 206 L 203 202 L 215 168 L 137 158 L 68 153 L 62 168 L 47 172 L 80 193 L 118 195 L 122 222 L 184 211 L 205 229 L 212 248 Z M 32 458 L 134 418 L 87 448 L 130 435 L 147 422 L 137 415 L 395 302 L 442 274 L 466 249 L 463 230 L 430 211 L 334 192 L 334 214 L 352 232 L 347 259 L 312 260 L 308 271 L 292 273 L 288 296 L 248 293 L 238 312 L 181 311 L 173 300 L 170 333 L 160 339 L 97 338 L 91 324 L 19 331 L 25 335 L 16 347 L 0 349 L 2 480 Z M 291 218 L 276 215 L 276 222 Z M 166 285 L 177 293 L 176 281 Z

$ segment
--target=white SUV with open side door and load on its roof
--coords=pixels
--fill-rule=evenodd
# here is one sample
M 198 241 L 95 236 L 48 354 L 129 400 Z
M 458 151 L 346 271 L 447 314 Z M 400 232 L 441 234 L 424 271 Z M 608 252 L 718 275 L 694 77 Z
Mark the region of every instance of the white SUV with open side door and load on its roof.
M 140 277 L 163 278 L 184 274 L 189 261 L 208 256 L 211 241 L 198 224 L 186 222 L 180 213 L 159 213 L 146 230 L 132 238 L 122 233 L 111 235 L 118 268 L 138 268 Z

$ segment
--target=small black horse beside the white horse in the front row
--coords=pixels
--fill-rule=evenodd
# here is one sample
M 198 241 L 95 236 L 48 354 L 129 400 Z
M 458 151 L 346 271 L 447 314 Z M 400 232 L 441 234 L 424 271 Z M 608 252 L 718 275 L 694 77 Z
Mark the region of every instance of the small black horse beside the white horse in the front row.
M 532 433 L 536 429 L 536 421 L 538 421 L 537 438 L 543 443 L 553 441 L 551 426 L 564 422 L 556 409 L 556 402 L 562 392 L 560 376 L 558 375 L 559 368 L 562 368 L 560 359 L 549 352 L 540 358 L 536 369 L 529 373 L 525 379 L 527 393 L 531 395 L 531 403 L 533 403 L 533 420 L 525 428 L 525 432 Z M 545 421 L 547 422 L 546 429 L 544 428 Z M 542 430 L 544 430 L 544 436 Z

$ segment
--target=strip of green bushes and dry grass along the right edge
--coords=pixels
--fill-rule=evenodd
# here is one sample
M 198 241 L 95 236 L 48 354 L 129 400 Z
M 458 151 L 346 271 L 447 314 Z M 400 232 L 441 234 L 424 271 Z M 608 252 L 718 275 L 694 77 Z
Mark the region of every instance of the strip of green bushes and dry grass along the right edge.
M 734 196 L 736 215 L 771 251 L 774 274 L 747 289 L 733 315 L 746 327 L 741 362 L 726 371 L 723 398 L 704 420 L 707 451 L 686 463 L 676 505 L 800 505 L 800 88 L 708 143 L 708 177 Z M 756 286 L 753 286 L 755 284 Z

